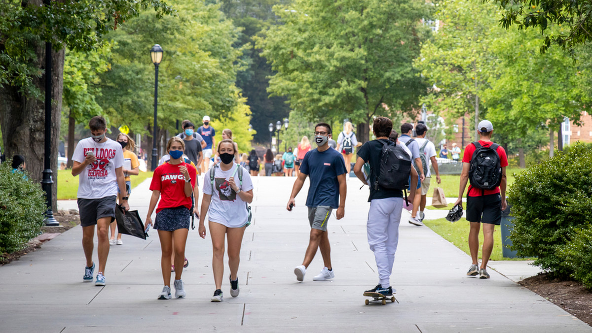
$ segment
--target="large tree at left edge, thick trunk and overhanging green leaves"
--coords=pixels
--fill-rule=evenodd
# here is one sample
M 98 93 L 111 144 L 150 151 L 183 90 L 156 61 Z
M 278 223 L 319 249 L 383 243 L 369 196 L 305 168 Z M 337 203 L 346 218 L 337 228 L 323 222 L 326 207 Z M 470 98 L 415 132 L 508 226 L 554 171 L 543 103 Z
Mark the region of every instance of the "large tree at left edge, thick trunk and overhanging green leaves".
M 47 5 L 46 5 L 47 4 Z M 118 23 L 153 8 L 157 17 L 173 9 L 160 0 L 5 0 L 0 2 L 0 125 L 8 156 L 20 153 L 34 180 L 41 179 L 44 156 L 45 43 L 53 45 L 52 154 L 56 174 L 62 112 L 65 49 L 92 50 Z M 53 186 L 53 208 L 56 209 Z

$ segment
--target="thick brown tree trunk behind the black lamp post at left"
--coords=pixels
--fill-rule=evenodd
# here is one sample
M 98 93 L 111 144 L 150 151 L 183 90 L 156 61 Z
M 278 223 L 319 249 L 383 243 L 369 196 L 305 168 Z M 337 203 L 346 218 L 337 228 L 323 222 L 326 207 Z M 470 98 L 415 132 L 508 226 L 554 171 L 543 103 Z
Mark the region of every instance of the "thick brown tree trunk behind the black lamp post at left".
M 45 43 L 39 43 L 34 52 L 37 54 L 36 66 L 44 70 Z M 52 209 L 57 211 L 57 156 L 60 137 L 60 115 L 62 114 L 62 90 L 64 50 L 52 53 L 52 137 L 50 139 L 52 154 L 51 168 L 53 172 Z M 45 91 L 45 77 L 33 77 L 33 83 L 40 90 L 41 96 Z M 27 172 L 35 182 L 43 179 L 44 159 L 44 124 L 45 111 L 42 99 L 34 99 L 22 95 L 17 86 L 0 88 L 0 124 L 2 126 L 2 140 L 6 156 L 21 154 L 27 163 Z

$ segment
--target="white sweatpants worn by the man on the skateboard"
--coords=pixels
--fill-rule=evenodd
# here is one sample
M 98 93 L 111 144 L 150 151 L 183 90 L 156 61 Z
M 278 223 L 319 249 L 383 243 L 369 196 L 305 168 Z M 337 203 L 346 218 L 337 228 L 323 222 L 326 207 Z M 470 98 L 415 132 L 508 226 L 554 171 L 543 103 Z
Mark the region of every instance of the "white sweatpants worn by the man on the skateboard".
M 392 273 L 392 263 L 397 252 L 399 241 L 399 224 L 401 211 L 403 210 L 403 198 L 374 199 L 370 201 L 368 211 L 368 245 L 374 252 L 378 279 L 382 287 L 388 288 Z

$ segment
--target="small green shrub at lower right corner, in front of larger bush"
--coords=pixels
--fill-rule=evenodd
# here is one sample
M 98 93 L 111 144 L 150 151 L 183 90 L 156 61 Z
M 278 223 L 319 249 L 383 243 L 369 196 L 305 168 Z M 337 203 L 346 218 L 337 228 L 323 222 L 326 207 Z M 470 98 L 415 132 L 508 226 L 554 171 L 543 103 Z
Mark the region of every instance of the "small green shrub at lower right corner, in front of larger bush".
M 566 266 L 572 270 L 571 277 L 592 288 L 592 228 L 578 229 L 570 243 L 558 251 Z

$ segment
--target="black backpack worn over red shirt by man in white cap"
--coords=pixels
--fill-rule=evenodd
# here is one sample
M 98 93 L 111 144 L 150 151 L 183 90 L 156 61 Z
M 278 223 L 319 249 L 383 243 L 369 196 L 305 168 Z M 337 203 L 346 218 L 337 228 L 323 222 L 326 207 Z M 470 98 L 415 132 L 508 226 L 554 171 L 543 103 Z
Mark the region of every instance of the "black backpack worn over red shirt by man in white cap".
M 501 161 L 497 153 L 500 145 L 492 143 L 490 147 L 483 147 L 479 141 L 473 144 L 476 149 L 471 157 L 469 181 L 472 187 L 485 193 L 485 190 L 493 190 L 501 183 Z

